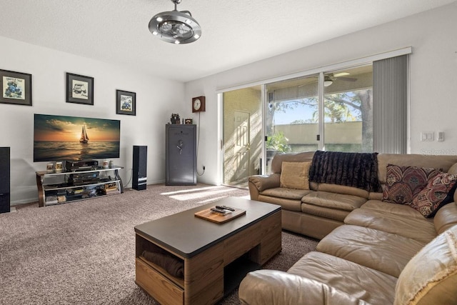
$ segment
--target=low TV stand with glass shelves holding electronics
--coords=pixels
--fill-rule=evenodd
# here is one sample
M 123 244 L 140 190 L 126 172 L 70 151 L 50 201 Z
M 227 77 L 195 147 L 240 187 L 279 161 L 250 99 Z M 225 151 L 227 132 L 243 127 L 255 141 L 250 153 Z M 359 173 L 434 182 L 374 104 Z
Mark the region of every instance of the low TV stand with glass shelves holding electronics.
M 119 169 L 123 169 L 123 167 L 114 166 L 110 169 L 100 167 L 85 171 L 53 173 L 36 171 L 38 205 L 64 204 L 70 201 L 124 193 Z

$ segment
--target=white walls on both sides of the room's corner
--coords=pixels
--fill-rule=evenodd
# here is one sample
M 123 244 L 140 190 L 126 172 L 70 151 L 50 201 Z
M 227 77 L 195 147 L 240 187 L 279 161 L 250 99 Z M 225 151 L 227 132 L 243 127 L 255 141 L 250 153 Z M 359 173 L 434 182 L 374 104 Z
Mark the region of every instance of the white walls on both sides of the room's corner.
M 457 96 L 457 3 L 341 36 L 330 41 L 181 84 L 52 49 L 0 37 L 0 69 L 32 74 L 33 106 L 0 104 L 0 146 L 11 147 L 11 201 L 36 201 L 33 162 L 34 114 L 88 116 L 121 120 L 121 157 L 124 184 L 131 177 L 133 145 L 148 146 L 148 183 L 164 181 L 164 124 L 171 113 L 193 118 L 191 98 L 206 96 L 206 112 L 199 124 L 200 182 L 221 182 L 219 89 L 329 66 L 342 61 L 413 47 L 411 54 L 411 153 L 457 154 L 454 99 Z M 266 38 L 267 39 L 267 38 Z M 230 60 L 230 59 L 221 59 Z M 94 77 L 94 106 L 65 101 L 65 73 Z M 116 114 L 116 89 L 136 92 L 136 116 Z M 421 142 L 421 131 L 444 131 L 445 141 Z M 131 182 L 129 183 L 129 186 Z

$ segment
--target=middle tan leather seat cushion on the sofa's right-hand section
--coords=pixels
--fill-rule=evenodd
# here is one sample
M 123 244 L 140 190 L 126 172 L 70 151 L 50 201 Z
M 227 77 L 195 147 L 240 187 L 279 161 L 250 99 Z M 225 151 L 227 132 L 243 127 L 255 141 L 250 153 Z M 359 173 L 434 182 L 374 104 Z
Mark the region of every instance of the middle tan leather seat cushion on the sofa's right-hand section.
M 334 229 L 317 250 L 398 277 L 423 244 L 396 234 L 345 224 Z

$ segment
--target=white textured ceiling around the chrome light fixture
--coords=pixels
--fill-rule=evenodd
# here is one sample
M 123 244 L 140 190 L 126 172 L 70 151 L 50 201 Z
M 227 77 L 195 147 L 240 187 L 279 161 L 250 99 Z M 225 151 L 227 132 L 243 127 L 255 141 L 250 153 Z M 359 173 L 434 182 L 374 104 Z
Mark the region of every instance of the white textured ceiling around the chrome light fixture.
M 191 81 L 454 1 L 182 0 L 202 36 L 175 45 L 148 29 L 170 0 L 0 0 L 0 36 Z

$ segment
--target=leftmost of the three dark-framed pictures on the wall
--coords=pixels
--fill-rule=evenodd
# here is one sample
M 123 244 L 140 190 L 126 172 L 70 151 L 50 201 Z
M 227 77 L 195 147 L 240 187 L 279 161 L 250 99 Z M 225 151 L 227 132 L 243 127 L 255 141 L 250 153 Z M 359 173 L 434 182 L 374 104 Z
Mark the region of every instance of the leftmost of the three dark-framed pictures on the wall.
M 31 106 L 31 74 L 0 70 L 0 103 Z

